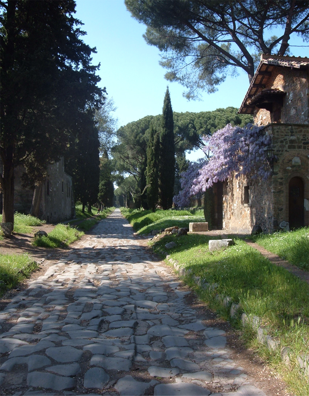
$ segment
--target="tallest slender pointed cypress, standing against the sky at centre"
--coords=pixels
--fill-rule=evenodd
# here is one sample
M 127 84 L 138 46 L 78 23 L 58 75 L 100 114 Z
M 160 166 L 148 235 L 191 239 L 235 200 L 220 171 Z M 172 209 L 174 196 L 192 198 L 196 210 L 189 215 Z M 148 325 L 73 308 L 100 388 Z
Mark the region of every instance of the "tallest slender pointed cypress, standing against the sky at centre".
M 169 209 L 173 204 L 175 181 L 174 120 L 169 88 L 167 88 L 162 112 L 159 163 L 159 204 Z

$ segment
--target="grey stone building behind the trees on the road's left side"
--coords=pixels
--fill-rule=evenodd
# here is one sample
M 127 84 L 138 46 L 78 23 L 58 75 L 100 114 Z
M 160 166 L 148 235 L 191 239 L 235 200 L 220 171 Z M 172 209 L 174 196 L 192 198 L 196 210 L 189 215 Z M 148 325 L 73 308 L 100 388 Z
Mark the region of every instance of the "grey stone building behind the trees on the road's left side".
M 15 169 L 14 209 L 20 213 L 30 213 L 34 198 L 34 188 L 23 188 L 23 167 Z M 72 177 L 64 171 L 64 159 L 50 164 L 47 178 L 36 187 L 37 217 L 47 223 L 57 223 L 75 216 Z

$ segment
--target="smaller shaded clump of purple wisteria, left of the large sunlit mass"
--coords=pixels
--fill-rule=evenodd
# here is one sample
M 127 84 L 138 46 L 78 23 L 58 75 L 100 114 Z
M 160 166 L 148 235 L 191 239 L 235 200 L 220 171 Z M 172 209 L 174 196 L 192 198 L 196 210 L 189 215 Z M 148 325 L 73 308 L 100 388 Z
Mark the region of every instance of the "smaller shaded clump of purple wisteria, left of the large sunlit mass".
M 199 159 L 197 162 L 190 162 L 188 169 L 180 174 L 180 185 L 181 190 L 178 195 L 175 195 L 173 202 L 179 207 L 190 206 L 190 199 L 193 196 L 196 198 L 201 198 L 201 192 L 193 192 L 193 180 L 197 179 L 200 175 L 200 169 L 205 165 L 205 160 L 203 158 Z

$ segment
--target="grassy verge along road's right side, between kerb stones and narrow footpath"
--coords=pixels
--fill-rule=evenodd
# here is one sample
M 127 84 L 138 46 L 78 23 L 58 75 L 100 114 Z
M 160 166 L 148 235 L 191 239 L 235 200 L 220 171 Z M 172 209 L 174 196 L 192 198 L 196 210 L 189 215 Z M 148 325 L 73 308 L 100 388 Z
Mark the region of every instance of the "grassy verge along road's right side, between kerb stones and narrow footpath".
M 174 220 L 173 217 L 168 220 L 170 212 L 167 211 L 165 216 L 164 221 L 167 223 Z M 135 217 L 135 213 L 131 213 L 130 222 L 140 232 L 145 229 L 140 223 L 141 218 L 141 214 L 136 213 Z M 181 267 L 190 268 L 190 276 L 186 276 L 184 282 L 210 308 L 242 330 L 248 345 L 259 350 L 269 364 L 284 375 L 295 395 L 309 395 L 308 377 L 297 363 L 299 354 L 309 354 L 309 285 L 284 268 L 271 264 L 243 240 L 235 240 L 234 246 L 212 253 L 208 248 L 209 239 L 206 235 L 169 234 L 152 242 L 152 247 L 163 258 L 163 252 L 167 251 L 165 244 L 175 242 L 176 246 L 169 249 L 168 253 Z M 168 261 L 167 264 L 171 265 Z M 197 286 L 193 276 L 205 279 L 209 287 Z M 240 305 L 241 309 L 235 318 L 229 316 L 231 303 L 224 307 L 218 295 L 229 296 L 231 302 Z M 252 329 L 243 329 L 240 319 L 243 312 L 249 316 L 259 316 L 260 326 L 264 327 L 267 334 L 280 341 L 280 347 L 291 348 L 290 366 L 282 363 L 279 349 L 269 352 L 258 343 Z

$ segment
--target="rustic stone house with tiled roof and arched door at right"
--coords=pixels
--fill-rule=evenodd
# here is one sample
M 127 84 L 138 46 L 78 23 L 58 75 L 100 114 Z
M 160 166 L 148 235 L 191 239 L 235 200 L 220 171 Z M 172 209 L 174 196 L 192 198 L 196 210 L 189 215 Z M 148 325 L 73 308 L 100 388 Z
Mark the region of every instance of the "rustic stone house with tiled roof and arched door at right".
M 239 113 L 253 114 L 271 135 L 273 174 L 266 182 L 240 177 L 223 183 L 223 229 L 250 233 L 260 225 L 273 232 L 282 221 L 291 229 L 309 225 L 308 98 L 309 59 L 261 56 Z

